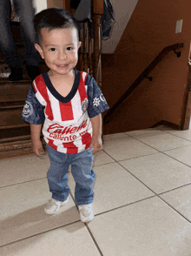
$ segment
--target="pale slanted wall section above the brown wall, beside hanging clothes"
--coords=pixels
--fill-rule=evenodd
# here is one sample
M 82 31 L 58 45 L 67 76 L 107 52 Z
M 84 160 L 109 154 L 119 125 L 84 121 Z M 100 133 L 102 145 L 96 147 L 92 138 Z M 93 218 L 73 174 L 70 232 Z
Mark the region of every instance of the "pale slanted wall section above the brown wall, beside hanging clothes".
M 113 25 L 109 39 L 102 41 L 103 53 L 113 53 L 115 51 L 138 1 L 139 0 L 111 0 L 114 8 L 115 24 Z

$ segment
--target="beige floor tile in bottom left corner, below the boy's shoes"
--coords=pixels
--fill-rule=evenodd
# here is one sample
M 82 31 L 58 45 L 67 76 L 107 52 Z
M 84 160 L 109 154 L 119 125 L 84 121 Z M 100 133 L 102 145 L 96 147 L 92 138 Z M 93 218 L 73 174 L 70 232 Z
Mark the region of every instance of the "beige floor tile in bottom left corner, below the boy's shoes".
M 99 256 L 82 222 L 23 239 L 0 248 L 1 256 Z

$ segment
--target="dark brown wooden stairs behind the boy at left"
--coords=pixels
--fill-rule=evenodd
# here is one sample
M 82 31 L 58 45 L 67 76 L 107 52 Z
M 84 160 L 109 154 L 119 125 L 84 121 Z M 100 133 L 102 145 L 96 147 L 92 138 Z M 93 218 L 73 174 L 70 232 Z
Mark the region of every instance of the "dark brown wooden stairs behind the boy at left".
M 11 23 L 11 29 L 17 51 L 22 54 L 23 44 L 20 28 Z M 0 51 L 0 62 L 4 58 Z M 0 158 L 7 158 L 32 152 L 30 125 L 21 118 L 31 78 L 23 66 L 23 80 L 10 82 L 10 69 L 7 64 L 0 65 Z M 48 71 L 43 60 L 39 64 L 41 72 Z

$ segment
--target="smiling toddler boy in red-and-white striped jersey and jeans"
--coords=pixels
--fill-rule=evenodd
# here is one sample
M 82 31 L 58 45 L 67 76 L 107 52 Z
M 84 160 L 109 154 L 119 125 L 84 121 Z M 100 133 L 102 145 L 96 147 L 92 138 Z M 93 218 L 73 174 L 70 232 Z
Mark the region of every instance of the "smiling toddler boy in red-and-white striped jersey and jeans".
M 94 218 L 93 155 L 102 150 L 101 113 L 109 106 L 94 78 L 76 71 L 81 42 L 74 17 L 67 10 L 50 8 L 36 14 L 34 22 L 38 38 L 35 47 L 49 71 L 30 85 L 22 118 L 30 123 L 33 152 L 39 157 L 43 154 L 43 125 L 52 193 L 44 211 L 53 214 L 69 201 L 67 174 L 71 165 L 80 218 L 89 222 Z

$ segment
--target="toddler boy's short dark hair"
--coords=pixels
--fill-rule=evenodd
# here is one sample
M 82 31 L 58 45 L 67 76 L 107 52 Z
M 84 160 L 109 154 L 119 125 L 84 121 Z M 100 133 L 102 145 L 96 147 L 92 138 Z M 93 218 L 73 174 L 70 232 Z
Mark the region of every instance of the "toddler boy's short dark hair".
M 79 38 L 79 26 L 76 19 L 69 13 L 68 10 L 62 8 L 56 7 L 40 11 L 34 18 L 34 26 L 38 44 L 41 42 L 41 30 L 43 28 L 49 30 L 76 28 L 77 36 Z

